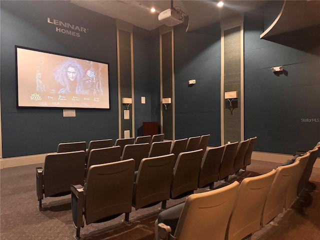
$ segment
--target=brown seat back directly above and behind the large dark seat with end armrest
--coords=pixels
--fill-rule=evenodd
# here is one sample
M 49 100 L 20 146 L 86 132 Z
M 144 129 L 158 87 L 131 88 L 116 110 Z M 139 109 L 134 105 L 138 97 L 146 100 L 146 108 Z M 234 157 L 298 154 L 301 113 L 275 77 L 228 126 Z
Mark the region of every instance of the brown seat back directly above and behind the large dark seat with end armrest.
M 120 151 L 120 146 L 110 146 L 92 149 L 89 153 L 86 168 L 89 168 L 91 165 L 119 161 L 121 156 Z

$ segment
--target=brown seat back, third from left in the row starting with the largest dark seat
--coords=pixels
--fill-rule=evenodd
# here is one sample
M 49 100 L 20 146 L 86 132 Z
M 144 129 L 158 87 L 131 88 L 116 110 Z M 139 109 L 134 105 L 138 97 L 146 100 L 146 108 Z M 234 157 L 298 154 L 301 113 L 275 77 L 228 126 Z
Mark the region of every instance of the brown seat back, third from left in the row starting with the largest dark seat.
M 197 189 L 202 151 L 198 149 L 178 155 L 172 175 L 171 198 L 183 197 Z

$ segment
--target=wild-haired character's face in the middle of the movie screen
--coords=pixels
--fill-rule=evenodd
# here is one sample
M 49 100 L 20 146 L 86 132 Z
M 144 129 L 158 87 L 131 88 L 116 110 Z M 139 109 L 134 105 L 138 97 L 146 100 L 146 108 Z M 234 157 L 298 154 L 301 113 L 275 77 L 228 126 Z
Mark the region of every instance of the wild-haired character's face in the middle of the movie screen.
M 58 65 L 54 70 L 54 77 L 62 85 L 58 93 L 81 94 L 81 79 L 83 68 L 74 59 L 67 59 Z

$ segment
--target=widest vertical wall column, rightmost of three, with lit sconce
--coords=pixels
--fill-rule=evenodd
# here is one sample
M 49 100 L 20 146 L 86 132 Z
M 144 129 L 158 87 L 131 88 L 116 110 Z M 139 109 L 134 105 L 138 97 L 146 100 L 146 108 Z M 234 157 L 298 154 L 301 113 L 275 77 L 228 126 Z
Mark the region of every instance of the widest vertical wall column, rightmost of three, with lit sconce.
M 244 138 L 243 98 L 243 14 L 240 14 L 221 20 L 221 144 Z

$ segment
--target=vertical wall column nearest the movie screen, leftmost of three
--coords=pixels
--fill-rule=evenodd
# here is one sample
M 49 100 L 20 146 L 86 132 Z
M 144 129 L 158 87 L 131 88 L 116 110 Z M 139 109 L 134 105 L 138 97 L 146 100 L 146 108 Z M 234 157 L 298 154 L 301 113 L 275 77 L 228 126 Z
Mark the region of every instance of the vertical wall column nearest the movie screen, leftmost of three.
M 132 29 L 132 24 L 116 20 L 119 138 L 134 137 Z M 123 98 L 126 103 L 123 103 Z M 127 134 L 128 130 L 129 135 Z

